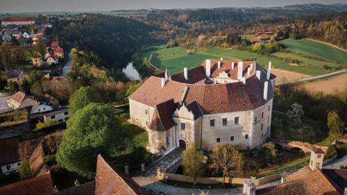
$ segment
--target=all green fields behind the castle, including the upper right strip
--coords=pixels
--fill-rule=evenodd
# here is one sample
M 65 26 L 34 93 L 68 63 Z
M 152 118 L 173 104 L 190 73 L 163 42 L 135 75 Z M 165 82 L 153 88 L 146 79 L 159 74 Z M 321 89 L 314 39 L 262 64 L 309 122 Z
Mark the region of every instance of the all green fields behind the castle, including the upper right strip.
M 185 49 L 180 46 L 146 51 L 143 54 L 148 59 L 152 54 L 151 63 L 155 67 L 163 70 L 168 69 L 173 74 L 183 71 L 184 67 L 198 67 L 205 59 L 223 58 L 226 60 L 255 60 L 263 67 L 267 67 L 271 61 L 273 67 L 278 69 L 296 71 L 301 74 L 319 75 L 328 71 L 323 68 L 324 65 L 328 65 L 331 68 L 330 71 L 332 71 L 333 68 L 342 67 L 342 62 L 346 62 L 347 59 L 347 52 L 319 42 L 284 40 L 282 43 L 287 46 L 289 52 L 276 52 L 269 56 L 262 56 L 250 51 L 217 47 L 210 49 L 196 48 L 196 53 L 188 55 Z M 321 53 L 325 53 L 325 55 L 321 55 Z M 293 60 L 299 60 L 300 66 L 290 65 Z

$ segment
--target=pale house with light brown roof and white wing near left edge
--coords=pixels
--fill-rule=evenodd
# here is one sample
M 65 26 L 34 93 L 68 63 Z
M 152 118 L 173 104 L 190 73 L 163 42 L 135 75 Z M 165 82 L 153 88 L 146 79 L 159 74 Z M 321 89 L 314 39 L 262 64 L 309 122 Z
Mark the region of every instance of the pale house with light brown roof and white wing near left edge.
M 28 96 L 23 92 L 17 92 L 10 96 L 10 98 L 7 100 L 7 104 L 13 109 L 26 108 L 29 114 L 53 110 L 50 105 L 45 105 L 40 103 L 40 101 L 35 101 L 33 96 Z

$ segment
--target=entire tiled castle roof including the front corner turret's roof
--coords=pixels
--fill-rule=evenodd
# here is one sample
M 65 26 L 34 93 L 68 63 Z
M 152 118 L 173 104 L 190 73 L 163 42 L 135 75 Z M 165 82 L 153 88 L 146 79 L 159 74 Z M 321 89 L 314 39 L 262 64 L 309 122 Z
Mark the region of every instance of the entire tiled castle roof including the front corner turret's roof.
M 153 130 L 167 130 L 170 128 L 165 127 L 164 124 L 173 124 L 173 121 L 164 122 L 160 119 L 169 117 L 172 112 L 167 113 L 168 110 L 176 110 L 172 106 L 176 105 L 177 108 L 181 103 L 187 105 L 189 111 L 192 110 L 194 118 L 197 117 L 196 115 L 200 117 L 201 115 L 224 112 L 255 110 L 273 98 L 273 86 L 271 82 L 268 82 L 268 93 L 265 100 L 263 98 L 264 83 L 268 81 L 266 71 L 256 65 L 255 62 L 244 61 L 242 65 L 242 77 L 246 79 L 246 84 L 244 84 L 242 81 L 237 80 L 238 63 L 232 60 L 210 60 L 209 78 L 218 78 L 223 75 L 233 80 L 234 83 L 207 84 L 209 78 L 206 76 L 205 61 L 200 67 L 187 71 L 188 79 L 185 78 L 185 72 L 175 74 L 165 80 L 163 87 L 162 78 L 165 78 L 164 73 L 151 76 L 138 90 L 129 96 L 129 99 L 155 108 L 153 120 L 149 125 Z M 257 71 L 260 73 L 260 78 L 257 77 Z M 271 74 L 270 80 L 273 78 L 275 76 Z M 173 103 L 171 101 L 171 103 L 168 103 L 171 99 Z M 194 101 L 196 102 L 194 103 Z M 162 113 L 159 110 L 158 112 L 158 108 L 163 106 L 167 111 Z M 160 116 L 161 114 L 163 117 Z M 164 115 L 167 117 L 164 117 Z

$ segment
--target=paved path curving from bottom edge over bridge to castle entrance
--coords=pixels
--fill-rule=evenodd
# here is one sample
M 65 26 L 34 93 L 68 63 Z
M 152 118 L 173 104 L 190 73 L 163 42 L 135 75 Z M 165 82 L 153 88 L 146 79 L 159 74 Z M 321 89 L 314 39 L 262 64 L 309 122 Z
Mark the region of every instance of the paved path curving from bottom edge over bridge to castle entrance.
M 171 167 L 173 164 L 175 164 L 178 160 L 181 159 L 182 154 L 181 149 L 176 149 L 169 153 L 168 155 L 164 156 L 159 162 L 156 162 L 151 169 L 147 171 L 143 171 L 141 173 L 137 173 L 135 176 L 133 176 L 133 180 L 135 180 L 136 183 L 141 185 L 142 187 L 146 189 L 151 189 L 153 192 L 159 193 L 163 192 L 166 195 L 174 195 L 174 194 L 180 194 L 180 195 L 192 195 L 192 194 L 200 194 L 201 191 L 198 189 L 187 189 L 182 187 L 174 187 L 171 185 L 166 185 L 159 180 L 155 178 L 157 176 L 157 170 L 160 169 L 162 171 L 167 171 L 169 167 Z M 204 192 L 208 192 L 208 195 L 233 195 L 233 194 L 242 194 L 241 188 L 232 188 L 232 189 L 204 189 Z

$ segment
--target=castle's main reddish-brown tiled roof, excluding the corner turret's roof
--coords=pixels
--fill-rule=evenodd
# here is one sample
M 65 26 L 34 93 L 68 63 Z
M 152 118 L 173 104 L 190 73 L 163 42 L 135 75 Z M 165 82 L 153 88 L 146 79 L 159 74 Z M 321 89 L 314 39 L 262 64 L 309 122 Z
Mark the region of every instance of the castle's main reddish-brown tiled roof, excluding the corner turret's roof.
M 224 66 L 231 65 L 230 62 L 226 62 Z M 247 66 L 250 64 L 251 62 L 245 62 L 244 70 L 246 70 Z M 235 67 L 235 69 L 237 69 L 237 67 Z M 219 74 L 218 70 L 214 68 L 211 70 L 212 75 Z M 260 80 L 255 76 L 255 70 L 262 71 Z M 197 67 L 193 69 L 193 71 L 194 74 L 198 74 L 196 77 L 190 77 L 194 82 L 196 80 L 201 80 L 201 78 L 203 78 L 203 76 L 201 76 L 202 74 L 205 76 L 203 68 L 201 67 Z M 266 103 L 263 99 L 266 71 L 258 65 L 253 65 L 253 71 L 246 79 L 246 85 L 242 82 L 212 85 L 182 83 L 178 82 L 178 80 L 182 81 L 182 76 L 180 75 L 181 74 L 176 74 L 175 76 L 172 76 L 172 80 L 168 80 L 164 87 L 161 87 L 161 78 L 158 77 L 158 75 L 151 76 L 141 87 L 139 87 L 138 90 L 129 96 L 129 99 L 139 103 L 144 103 L 154 108 L 155 105 L 169 99 L 174 99 L 174 102 L 178 103 L 181 100 L 185 87 L 187 87 L 188 90 L 183 103 L 187 105 L 196 100 L 204 115 L 254 110 Z M 188 71 L 188 78 L 189 75 L 190 73 Z M 235 72 L 230 72 L 230 75 L 235 76 Z M 271 75 L 271 78 L 275 78 L 275 76 Z M 272 98 L 273 87 L 269 82 L 267 100 Z

